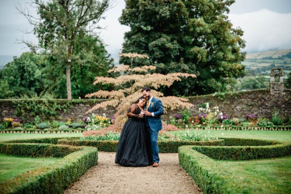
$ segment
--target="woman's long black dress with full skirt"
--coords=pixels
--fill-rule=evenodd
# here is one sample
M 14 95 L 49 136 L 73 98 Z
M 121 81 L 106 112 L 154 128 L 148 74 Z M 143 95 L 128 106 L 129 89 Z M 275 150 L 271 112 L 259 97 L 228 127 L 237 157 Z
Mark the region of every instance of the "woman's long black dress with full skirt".
M 141 113 L 136 106 L 134 114 Z M 118 142 L 115 163 L 122 166 L 149 166 L 152 164 L 149 133 L 143 118 L 131 118 L 126 121 Z

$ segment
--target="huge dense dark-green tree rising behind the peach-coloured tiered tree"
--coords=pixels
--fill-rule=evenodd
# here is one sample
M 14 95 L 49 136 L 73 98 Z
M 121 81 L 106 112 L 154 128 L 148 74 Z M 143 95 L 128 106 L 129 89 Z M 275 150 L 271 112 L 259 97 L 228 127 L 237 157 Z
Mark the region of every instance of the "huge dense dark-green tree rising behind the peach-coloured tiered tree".
M 123 53 L 150 56 L 156 72 L 187 72 L 197 79 L 174 83 L 165 95 L 225 91 L 244 75 L 242 30 L 226 16 L 234 0 L 126 0 L 119 21 L 130 27 Z M 128 59 L 121 58 L 121 63 Z M 148 64 L 146 64 L 148 63 Z

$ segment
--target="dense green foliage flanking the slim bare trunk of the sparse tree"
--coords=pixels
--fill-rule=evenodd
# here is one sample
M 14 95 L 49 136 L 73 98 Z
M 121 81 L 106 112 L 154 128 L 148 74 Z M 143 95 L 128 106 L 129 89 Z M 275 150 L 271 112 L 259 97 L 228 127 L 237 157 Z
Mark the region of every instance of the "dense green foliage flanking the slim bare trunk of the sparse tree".
M 92 36 L 82 36 L 76 42 L 73 50 L 76 59 L 71 62 L 72 97 L 83 98 L 86 94 L 109 89 L 108 85 L 92 84 L 96 76 L 108 76 L 107 71 L 113 66 L 113 59 L 104 44 Z M 44 92 L 56 98 L 65 98 L 65 66 L 59 64 L 58 56 L 55 55 L 48 55 L 46 63 L 43 71 Z

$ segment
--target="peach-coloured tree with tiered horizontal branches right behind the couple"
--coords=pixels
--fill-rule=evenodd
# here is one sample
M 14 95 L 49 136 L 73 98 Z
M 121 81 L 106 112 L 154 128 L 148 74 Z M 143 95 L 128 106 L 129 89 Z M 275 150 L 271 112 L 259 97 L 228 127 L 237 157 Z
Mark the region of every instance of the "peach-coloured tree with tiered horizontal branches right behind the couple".
M 113 84 L 115 90 L 113 91 L 97 91 L 92 94 L 86 95 L 86 97 L 99 97 L 109 98 L 111 100 L 98 103 L 91 108 L 87 113 L 102 108 L 106 109 L 108 106 L 116 108 L 115 120 L 124 122 L 126 118 L 126 110 L 128 107 L 139 97 L 142 96 L 141 89 L 145 86 L 152 88 L 152 94 L 162 100 L 162 104 L 165 110 L 174 109 L 189 109 L 193 107 L 187 99 L 182 97 L 168 96 L 164 97 L 163 93 L 157 90 L 161 86 L 170 87 L 174 82 L 181 81 L 181 78 L 193 79 L 196 76 L 188 73 L 168 73 L 166 75 L 155 73 L 156 66 L 144 65 L 133 67 L 133 61 L 148 60 L 147 55 L 141 55 L 136 53 L 123 53 L 121 57 L 130 59 L 130 65 L 121 65 L 119 67 L 109 70 L 109 73 L 120 73 L 120 76 L 116 78 L 108 77 L 96 77 L 96 81 L 93 84 Z M 86 114 L 87 114 L 86 113 Z

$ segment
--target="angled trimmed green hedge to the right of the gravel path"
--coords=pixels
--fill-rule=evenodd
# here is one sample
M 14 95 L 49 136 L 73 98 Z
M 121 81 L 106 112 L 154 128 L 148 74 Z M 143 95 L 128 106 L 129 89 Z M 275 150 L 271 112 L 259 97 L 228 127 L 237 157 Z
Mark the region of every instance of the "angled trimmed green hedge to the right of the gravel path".
M 224 138 L 226 146 L 181 146 L 179 163 L 194 179 L 203 193 L 256 194 L 261 193 L 247 179 L 236 178 L 215 160 L 249 160 L 291 155 L 291 144 Z M 208 155 L 208 156 L 207 156 Z M 210 158 L 212 157 L 212 158 Z

